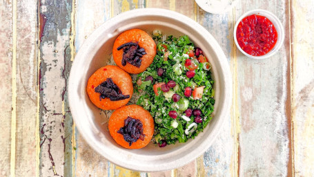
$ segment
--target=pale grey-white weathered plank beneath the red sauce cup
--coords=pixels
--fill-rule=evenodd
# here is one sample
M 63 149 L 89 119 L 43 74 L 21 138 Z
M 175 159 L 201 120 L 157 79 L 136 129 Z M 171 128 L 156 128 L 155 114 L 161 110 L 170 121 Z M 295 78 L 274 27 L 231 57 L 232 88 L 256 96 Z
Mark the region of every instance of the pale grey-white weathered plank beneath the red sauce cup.
M 235 19 L 251 9 L 266 9 L 282 21 L 286 33 L 282 48 L 268 59 L 249 59 L 237 50 L 239 154 L 243 154 L 239 176 L 291 176 L 287 1 L 241 1 L 239 5 Z

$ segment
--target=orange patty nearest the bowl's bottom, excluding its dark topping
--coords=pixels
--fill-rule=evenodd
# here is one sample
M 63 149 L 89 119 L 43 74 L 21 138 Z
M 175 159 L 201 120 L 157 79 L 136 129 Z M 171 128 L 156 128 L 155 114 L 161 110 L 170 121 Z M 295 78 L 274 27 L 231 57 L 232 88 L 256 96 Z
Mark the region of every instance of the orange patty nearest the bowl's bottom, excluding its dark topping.
M 121 133 L 118 133 L 121 127 L 124 127 L 124 120 L 130 116 L 133 119 L 139 119 L 143 124 L 143 134 L 145 135 L 144 140 L 138 139 L 136 142 L 133 142 L 132 145 L 129 145 L 129 142 L 124 140 L 124 136 Z M 143 109 L 141 106 L 135 104 L 130 106 L 122 106 L 121 108 L 115 110 L 109 119 L 108 129 L 112 138 L 127 149 L 141 149 L 146 147 L 150 140 L 153 138 L 154 134 L 154 120 L 148 111 Z

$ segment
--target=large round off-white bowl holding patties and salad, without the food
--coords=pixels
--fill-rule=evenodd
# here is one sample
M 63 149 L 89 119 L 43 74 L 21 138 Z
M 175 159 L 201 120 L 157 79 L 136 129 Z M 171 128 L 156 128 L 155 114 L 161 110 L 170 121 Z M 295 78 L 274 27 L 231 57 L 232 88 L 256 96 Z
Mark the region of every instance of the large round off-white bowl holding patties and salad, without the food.
M 109 134 L 110 113 L 101 111 L 90 102 L 86 93 L 88 77 L 108 64 L 115 39 L 121 32 L 131 28 L 139 28 L 149 34 L 158 29 L 166 35 L 188 35 L 208 57 L 215 80 L 215 111 L 213 120 L 195 139 L 163 148 L 150 143 L 143 149 L 124 149 Z M 90 147 L 116 165 L 135 171 L 174 169 L 202 155 L 213 144 L 228 117 L 232 97 L 230 68 L 214 37 L 184 15 L 153 8 L 124 12 L 99 26 L 79 48 L 70 72 L 68 91 L 72 117 Z

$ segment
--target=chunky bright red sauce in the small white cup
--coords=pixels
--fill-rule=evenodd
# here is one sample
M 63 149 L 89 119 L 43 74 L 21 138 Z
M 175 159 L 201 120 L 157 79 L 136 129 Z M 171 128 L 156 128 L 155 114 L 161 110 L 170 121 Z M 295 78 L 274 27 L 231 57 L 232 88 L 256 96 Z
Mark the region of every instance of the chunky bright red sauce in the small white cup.
M 276 42 L 277 30 L 266 17 L 250 15 L 237 26 L 237 43 L 249 55 L 265 55 Z

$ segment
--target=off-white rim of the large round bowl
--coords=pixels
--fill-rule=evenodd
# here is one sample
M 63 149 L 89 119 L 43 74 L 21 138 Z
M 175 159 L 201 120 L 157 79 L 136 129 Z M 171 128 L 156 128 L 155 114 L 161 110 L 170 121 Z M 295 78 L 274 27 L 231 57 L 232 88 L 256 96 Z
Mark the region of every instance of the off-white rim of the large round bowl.
M 213 144 L 213 140 L 215 140 L 215 138 L 219 134 L 219 131 L 221 131 L 222 125 L 224 124 L 226 117 L 230 113 L 230 106 L 231 106 L 231 100 L 232 100 L 232 81 L 231 81 L 231 74 L 230 74 L 230 66 L 227 62 L 226 55 L 224 55 L 222 48 L 219 46 L 215 38 L 212 35 L 210 35 L 210 32 L 208 32 L 208 30 L 206 30 L 203 26 L 198 24 L 193 19 L 190 19 L 184 15 L 181 15 L 178 12 L 159 9 L 159 8 L 142 8 L 142 9 L 130 10 L 128 12 L 123 12 L 117 15 L 116 17 L 109 19 L 108 21 L 104 22 L 104 24 L 101 24 L 101 26 L 99 26 L 94 32 L 92 32 L 92 34 L 88 37 L 88 39 L 84 41 L 84 44 L 82 44 L 81 47 L 79 48 L 80 50 L 75 56 L 75 60 L 72 64 L 72 68 L 70 71 L 70 77 L 69 77 L 69 82 L 68 82 L 68 86 L 69 86 L 68 99 L 69 99 L 69 104 L 70 104 L 70 110 L 75 110 L 73 108 L 75 108 L 76 102 L 79 101 L 75 93 L 77 83 L 73 82 L 76 76 L 75 73 L 78 72 L 77 65 L 79 65 L 79 62 L 82 62 L 84 60 L 83 58 L 86 57 L 86 55 L 90 54 L 89 53 L 90 52 L 89 50 L 91 47 L 90 44 L 93 44 L 99 40 L 97 39 L 99 37 L 98 35 L 101 33 L 102 30 L 106 29 L 106 25 L 110 24 L 110 26 L 112 26 L 112 24 L 119 24 L 121 21 L 124 21 L 125 19 L 130 19 L 134 17 L 142 17 L 146 15 L 161 16 L 161 17 L 167 17 L 167 18 L 176 19 L 176 20 L 179 17 L 184 20 L 184 24 L 188 24 L 188 26 L 193 26 L 193 28 L 197 28 L 197 30 L 200 30 L 202 34 L 204 34 L 204 36 L 210 39 L 210 45 L 213 46 L 213 48 L 215 48 L 215 53 L 219 56 L 219 60 L 218 60 L 219 65 L 221 65 L 222 68 L 226 68 L 225 71 L 222 72 L 223 73 L 222 77 L 224 78 L 224 84 L 225 84 L 224 88 L 222 88 L 224 89 L 224 97 L 225 97 L 223 100 L 224 104 L 222 104 L 222 108 L 221 108 L 222 113 L 217 120 L 217 124 L 215 124 L 215 127 L 213 127 L 213 132 L 215 132 L 215 133 L 212 133 L 213 138 L 206 138 L 206 142 L 202 142 L 202 144 L 199 147 L 196 147 L 194 149 L 195 153 L 193 156 L 192 155 L 188 156 L 187 154 L 186 156 L 183 156 L 182 158 L 179 158 L 178 160 L 168 162 L 167 164 L 161 164 L 161 165 L 156 164 L 153 167 L 146 167 L 146 166 L 143 167 L 141 165 L 134 165 L 134 164 L 130 165 L 130 164 L 126 164 L 126 162 L 123 159 L 118 160 L 117 158 L 111 158 L 113 156 L 112 154 L 108 154 L 106 153 L 106 151 L 102 151 L 103 147 L 95 143 L 95 140 L 93 138 L 90 138 L 92 137 L 92 132 L 83 131 L 84 122 L 78 121 L 78 117 L 80 115 L 77 113 L 77 111 L 73 111 L 73 112 L 71 111 L 71 113 L 72 113 L 73 120 L 75 120 L 76 122 L 76 126 L 79 132 L 84 132 L 84 133 L 81 133 L 80 135 L 84 138 L 84 140 L 86 140 L 86 142 L 88 142 L 88 145 L 90 145 L 92 149 L 97 151 L 101 156 L 104 156 L 104 158 L 106 158 L 110 162 L 113 162 L 114 164 L 117 164 L 126 169 L 131 169 L 135 171 L 166 171 L 169 169 L 175 169 L 177 167 L 181 167 L 182 165 L 186 165 L 188 162 L 194 160 L 198 156 L 201 156 L 202 153 L 204 153 L 204 151 L 206 151 L 210 147 L 210 145 Z M 100 44 L 97 44 L 97 45 L 100 45 Z M 81 50 L 82 48 L 85 48 L 86 50 Z M 91 53 L 91 54 L 95 54 L 95 53 Z M 88 121 L 88 120 L 84 120 L 84 121 Z M 180 163 L 178 163 L 178 161 Z

